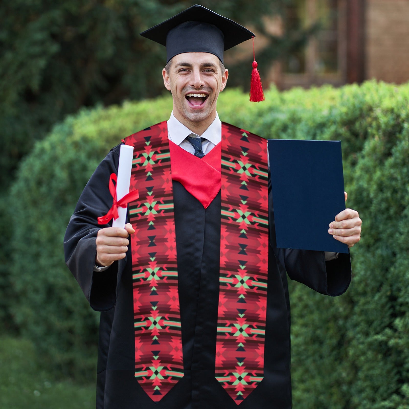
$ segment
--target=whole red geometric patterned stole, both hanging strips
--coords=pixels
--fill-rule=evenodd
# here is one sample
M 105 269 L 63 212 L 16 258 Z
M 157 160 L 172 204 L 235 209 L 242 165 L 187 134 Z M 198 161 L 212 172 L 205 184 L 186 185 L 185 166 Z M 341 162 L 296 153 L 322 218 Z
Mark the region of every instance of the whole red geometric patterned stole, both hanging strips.
M 158 402 L 183 376 L 175 218 L 167 123 L 134 146 L 130 203 L 135 377 Z M 222 124 L 220 297 L 216 379 L 239 404 L 263 379 L 267 304 L 267 143 Z

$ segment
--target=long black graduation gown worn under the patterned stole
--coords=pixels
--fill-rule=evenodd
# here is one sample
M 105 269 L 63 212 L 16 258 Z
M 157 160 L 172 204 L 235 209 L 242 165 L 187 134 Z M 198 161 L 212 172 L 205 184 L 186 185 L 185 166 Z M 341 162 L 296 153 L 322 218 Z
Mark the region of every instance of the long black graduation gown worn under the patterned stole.
M 207 209 L 173 182 L 184 377 L 153 402 L 134 376 L 133 290 L 130 246 L 125 260 L 93 272 L 97 217 L 112 204 L 109 175 L 117 173 L 119 146 L 86 185 L 65 234 L 65 258 L 94 310 L 101 311 L 97 409 L 235 409 L 214 378 L 219 293 L 220 192 Z M 326 262 L 324 252 L 275 248 L 272 198 L 264 379 L 240 409 L 290 409 L 290 303 L 287 276 L 328 295 L 351 280 L 348 254 Z M 135 233 L 136 234 L 136 233 Z

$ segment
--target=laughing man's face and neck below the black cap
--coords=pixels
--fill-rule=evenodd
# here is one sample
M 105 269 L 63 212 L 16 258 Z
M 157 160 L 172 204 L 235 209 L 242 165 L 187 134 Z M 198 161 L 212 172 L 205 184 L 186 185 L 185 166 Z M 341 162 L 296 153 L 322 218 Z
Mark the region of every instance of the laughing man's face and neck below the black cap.
M 169 72 L 163 69 L 162 74 L 166 89 L 172 92 L 173 115 L 201 135 L 216 117 L 217 98 L 229 72 L 222 70 L 213 54 L 188 52 L 174 56 Z

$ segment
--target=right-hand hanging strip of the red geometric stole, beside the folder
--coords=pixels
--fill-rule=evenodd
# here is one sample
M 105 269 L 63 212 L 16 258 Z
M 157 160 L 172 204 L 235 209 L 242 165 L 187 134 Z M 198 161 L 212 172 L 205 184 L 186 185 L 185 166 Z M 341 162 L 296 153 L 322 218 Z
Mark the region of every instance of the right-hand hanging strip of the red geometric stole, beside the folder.
M 216 379 L 240 404 L 263 379 L 267 307 L 267 142 L 222 125 Z

